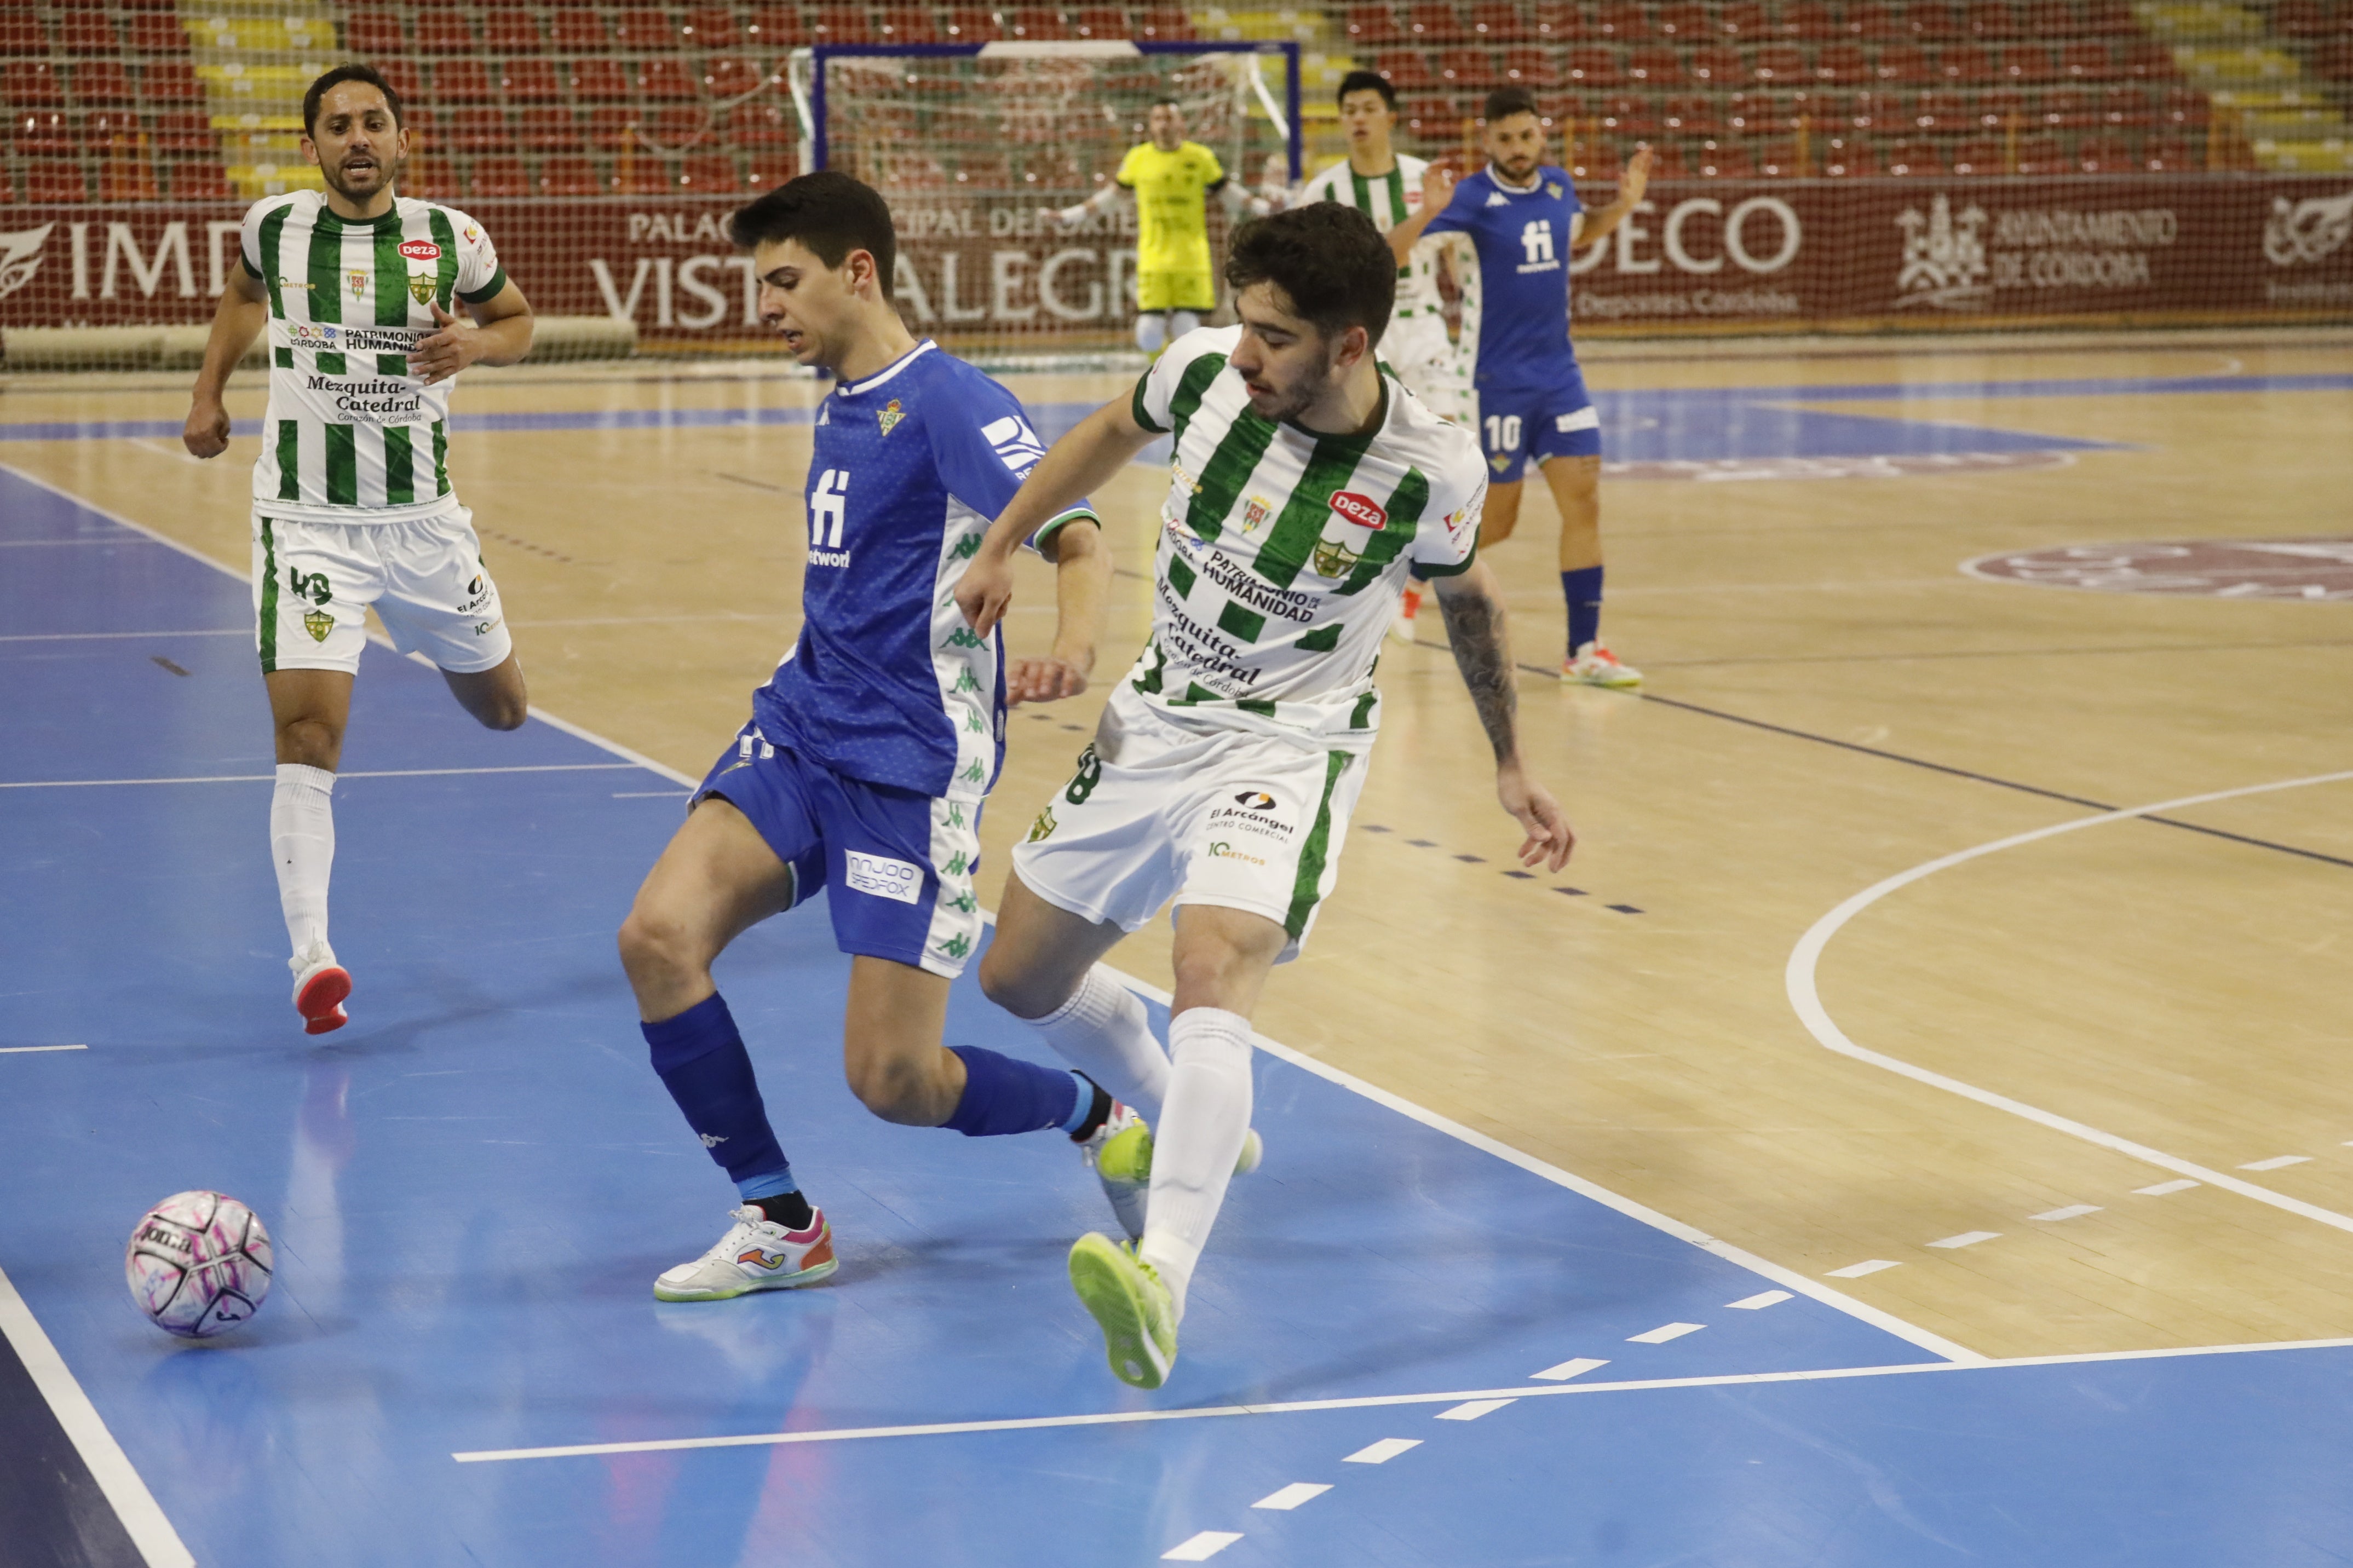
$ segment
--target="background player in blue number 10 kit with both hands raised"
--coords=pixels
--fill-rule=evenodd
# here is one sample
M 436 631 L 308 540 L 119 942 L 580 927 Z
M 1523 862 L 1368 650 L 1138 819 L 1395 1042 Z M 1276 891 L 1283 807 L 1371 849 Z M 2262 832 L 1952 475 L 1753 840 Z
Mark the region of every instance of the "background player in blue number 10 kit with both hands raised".
M 1424 235 L 1471 235 L 1478 249 L 1480 444 L 1487 451 L 1487 522 L 1480 543 L 1511 538 L 1529 458 L 1560 508 L 1560 592 L 1569 602 L 1569 654 L 1560 677 L 1588 686 L 1635 686 L 1602 625 L 1602 430 L 1569 346 L 1569 247 L 1593 244 L 1642 202 L 1649 148 L 1626 165 L 1617 200 L 1586 209 L 1569 172 L 1544 162 L 1544 120 L 1525 87 L 1487 94 L 1487 167 L 1452 186 L 1431 165 L 1421 212 L 1388 230 L 1398 261 Z M 1468 310 L 1464 313 L 1468 320 Z M 1468 334 L 1466 334 L 1468 339 Z

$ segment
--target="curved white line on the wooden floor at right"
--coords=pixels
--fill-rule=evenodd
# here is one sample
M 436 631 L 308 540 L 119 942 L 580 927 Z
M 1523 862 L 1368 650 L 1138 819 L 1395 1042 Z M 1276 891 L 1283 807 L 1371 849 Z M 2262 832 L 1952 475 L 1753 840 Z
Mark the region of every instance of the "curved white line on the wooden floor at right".
M 1814 969 L 1821 964 L 1821 950 L 1831 945 L 1831 938 L 1838 936 L 1838 931 L 1849 919 L 1875 905 L 1880 898 L 1887 898 L 1897 889 L 1911 886 L 1922 877 L 1934 877 L 1937 872 L 1960 865 L 1962 860 L 1977 860 L 1979 856 L 1991 856 L 2002 849 L 2017 849 L 2021 844 L 2054 839 L 2061 832 L 2080 832 L 2082 827 L 2122 823 L 2134 816 L 2179 811 L 2184 806 L 2205 806 L 2217 799 L 2238 799 L 2242 795 L 2271 795 L 2273 790 L 2301 790 L 2306 785 L 2344 783 L 2348 778 L 2353 778 L 2353 771 L 2313 773 L 2311 778 L 2282 778 L 2278 783 L 2240 785 L 2238 790 L 2212 790 L 2207 795 L 2184 795 L 2181 799 L 2160 799 L 2148 806 L 2125 806 L 2120 811 L 2101 811 L 2097 816 L 2075 818 L 2073 823 L 2035 827 L 2033 832 L 2014 832 L 2007 839 L 1993 839 L 1991 844 L 1979 844 L 1977 849 L 1962 849 L 1951 856 L 1939 856 L 1937 860 L 1915 865 L 1908 872 L 1897 872 L 1887 882 L 1866 886 L 1861 893 L 1857 893 L 1847 903 L 1838 905 L 1835 910 L 1817 919 L 1814 926 L 1802 938 L 1798 938 L 1798 947 L 1791 950 L 1788 971 L 1784 976 L 1788 985 L 1788 1004 L 1798 1009 L 1798 1018 L 1800 1023 L 1805 1023 L 1807 1032 L 1831 1051 L 1838 1051 L 1840 1056 L 1852 1056 L 1859 1063 L 1871 1063 L 1873 1067 L 1885 1067 L 1887 1072 L 1901 1072 L 1904 1077 L 1927 1084 L 1932 1088 L 1958 1093 L 1967 1100 L 1977 1100 L 1979 1105 L 1991 1105 L 1993 1110 L 2007 1110 L 2012 1117 L 2026 1117 L 2028 1121 L 2038 1121 L 2052 1131 L 2066 1133 L 2071 1138 L 2082 1138 L 2085 1143 L 2097 1143 L 2104 1150 L 2115 1150 L 2118 1154 L 2129 1154 L 2132 1159 L 2144 1159 L 2165 1171 L 2174 1171 L 2179 1175 L 2193 1175 L 2212 1187 L 2224 1187 L 2240 1197 L 2249 1197 L 2257 1204 L 2271 1204 L 2273 1208 L 2285 1208 L 2287 1213 L 2304 1215 L 2306 1220 L 2320 1220 L 2322 1225 L 2334 1225 L 2337 1229 L 2353 1232 L 2353 1215 L 2341 1215 L 2334 1208 L 2320 1208 L 2318 1204 L 2292 1199 L 2285 1192 L 2273 1192 L 2271 1187 L 2257 1187 L 2254 1182 L 2245 1182 L 2221 1171 L 2209 1171 L 2207 1166 L 2191 1164 L 2188 1159 L 2167 1154 L 2165 1150 L 2151 1150 L 2146 1143 L 2132 1143 L 2129 1138 L 2104 1133 L 2097 1126 L 2087 1126 L 2071 1117 L 2047 1112 L 2038 1105 L 2026 1105 L 2024 1100 L 1998 1095 L 1991 1088 L 1979 1088 L 1977 1084 L 1962 1084 L 1960 1079 L 1951 1079 L 1941 1072 L 1929 1072 L 1927 1067 L 1915 1067 L 1906 1060 L 1897 1060 L 1894 1056 L 1885 1056 L 1880 1051 L 1866 1051 L 1864 1046 L 1857 1046 L 1852 1039 L 1847 1039 L 1845 1030 L 1840 1030 L 1838 1023 L 1831 1020 L 1831 1013 L 1821 1006 L 1821 992 L 1817 992 L 1814 987 Z

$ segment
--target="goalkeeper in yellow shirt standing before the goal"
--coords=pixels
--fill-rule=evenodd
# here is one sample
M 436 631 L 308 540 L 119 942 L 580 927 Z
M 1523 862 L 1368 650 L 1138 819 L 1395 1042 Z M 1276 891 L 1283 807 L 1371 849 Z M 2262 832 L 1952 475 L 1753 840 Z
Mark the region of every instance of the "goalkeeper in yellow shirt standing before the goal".
M 1136 202 L 1136 348 L 1158 355 L 1162 346 L 1200 327 L 1217 310 L 1217 270 L 1209 263 L 1209 202 L 1219 197 L 1233 214 L 1266 216 L 1264 197 L 1233 186 L 1217 153 L 1184 139 L 1184 108 L 1160 99 L 1144 118 L 1151 141 L 1127 148 L 1111 186 L 1075 207 L 1047 207 L 1047 216 L 1075 228 L 1092 212 L 1111 212 L 1122 193 Z

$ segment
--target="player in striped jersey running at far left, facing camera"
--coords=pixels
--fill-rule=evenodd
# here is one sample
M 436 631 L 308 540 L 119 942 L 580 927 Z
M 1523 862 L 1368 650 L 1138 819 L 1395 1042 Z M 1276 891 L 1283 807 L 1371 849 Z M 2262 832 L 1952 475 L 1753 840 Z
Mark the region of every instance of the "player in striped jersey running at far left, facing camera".
M 393 646 L 424 651 L 489 729 L 529 717 L 473 512 L 449 487 L 452 378 L 532 348 L 532 306 L 464 212 L 398 195 L 400 94 L 336 66 L 304 94 L 304 158 L 325 190 L 245 214 L 242 259 L 205 343 L 184 442 L 228 449 L 221 388 L 266 329 L 271 407 L 254 463 L 254 639 L 278 729 L 271 858 L 308 1034 L 348 1018 L 351 973 L 327 945 L 334 766 L 374 607 Z M 473 317 L 456 317 L 459 303 Z

